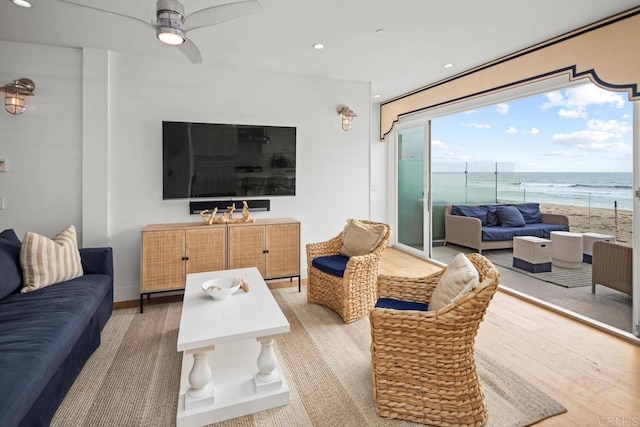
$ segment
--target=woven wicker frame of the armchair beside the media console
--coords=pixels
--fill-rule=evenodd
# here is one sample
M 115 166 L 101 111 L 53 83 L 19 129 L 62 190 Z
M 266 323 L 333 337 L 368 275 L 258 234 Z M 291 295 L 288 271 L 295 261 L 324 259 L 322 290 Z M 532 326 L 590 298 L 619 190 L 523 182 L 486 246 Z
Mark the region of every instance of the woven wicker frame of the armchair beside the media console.
M 373 221 L 362 222 L 382 224 Z M 318 257 L 338 255 L 342 247 L 344 231 L 326 242 L 309 243 L 307 245 L 307 302 L 331 308 L 342 317 L 345 323 L 369 314 L 376 302 L 378 267 L 391 236 L 391 227 L 386 225 L 386 228 L 385 236 L 372 252 L 349 258 L 343 277 L 326 273 L 314 267 L 312 262 Z

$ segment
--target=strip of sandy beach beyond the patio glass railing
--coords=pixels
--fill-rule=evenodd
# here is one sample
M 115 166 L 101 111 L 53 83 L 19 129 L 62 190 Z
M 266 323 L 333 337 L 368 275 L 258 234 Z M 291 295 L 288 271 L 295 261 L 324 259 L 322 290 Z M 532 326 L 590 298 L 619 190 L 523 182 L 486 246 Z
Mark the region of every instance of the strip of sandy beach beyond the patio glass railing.
M 577 233 L 600 233 L 616 236 L 619 243 L 631 246 L 632 212 L 618 210 L 617 221 L 613 209 L 587 208 L 582 206 L 540 204 L 543 213 L 556 213 L 569 217 L 569 228 Z M 616 233 L 617 223 L 617 233 Z

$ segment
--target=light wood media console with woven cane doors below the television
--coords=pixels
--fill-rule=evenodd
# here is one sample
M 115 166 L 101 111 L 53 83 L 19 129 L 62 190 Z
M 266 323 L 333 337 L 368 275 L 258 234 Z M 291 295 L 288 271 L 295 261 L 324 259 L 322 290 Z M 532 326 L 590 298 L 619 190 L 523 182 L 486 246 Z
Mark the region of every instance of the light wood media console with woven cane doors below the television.
M 298 278 L 300 222 L 151 224 L 142 229 L 140 313 L 143 297 L 183 290 L 187 274 L 257 267 L 265 280 Z

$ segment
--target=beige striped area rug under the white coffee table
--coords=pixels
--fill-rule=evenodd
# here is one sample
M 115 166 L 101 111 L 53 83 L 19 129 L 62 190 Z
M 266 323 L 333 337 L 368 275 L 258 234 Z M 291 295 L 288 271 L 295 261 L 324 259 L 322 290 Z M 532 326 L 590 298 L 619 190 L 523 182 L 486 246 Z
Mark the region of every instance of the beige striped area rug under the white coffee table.
M 303 290 L 273 291 L 291 324 L 277 357 L 291 391 L 287 406 L 217 425 L 411 426 L 375 413 L 368 319 L 345 325 L 307 304 Z M 173 426 L 182 355 L 176 352 L 181 303 L 114 311 L 94 353 L 52 426 Z M 527 426 L 566 412 L 559 403 L 491 358 L 476 353 L 489 426 Z

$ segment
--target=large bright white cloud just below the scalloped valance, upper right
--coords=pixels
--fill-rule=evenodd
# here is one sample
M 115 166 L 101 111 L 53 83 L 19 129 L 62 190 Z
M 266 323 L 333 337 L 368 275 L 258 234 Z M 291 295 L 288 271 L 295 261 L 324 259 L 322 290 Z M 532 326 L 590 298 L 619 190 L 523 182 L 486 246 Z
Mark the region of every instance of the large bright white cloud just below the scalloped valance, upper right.
M 547 102 L 540 105 L 542 111 L 562 107 L 558 115 L 565 119 L 587 117 L 587 108 L 591 105 L 609 105 L 616 108 L 624 106 L 624 98 L 615 92 L 610 92 L 593 84 L 576 86 L 564 91 L 554 91 L 545 94 Z

